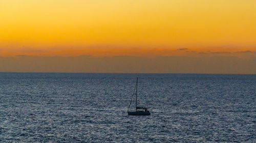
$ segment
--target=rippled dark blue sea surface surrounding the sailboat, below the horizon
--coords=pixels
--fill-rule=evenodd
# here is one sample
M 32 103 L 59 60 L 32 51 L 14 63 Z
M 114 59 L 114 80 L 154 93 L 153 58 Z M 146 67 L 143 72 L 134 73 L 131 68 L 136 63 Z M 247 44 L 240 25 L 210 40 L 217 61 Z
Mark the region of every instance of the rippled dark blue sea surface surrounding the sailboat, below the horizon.
M 0 73 L 0 142 L 256 142 L 255 98 L 256 75 Z

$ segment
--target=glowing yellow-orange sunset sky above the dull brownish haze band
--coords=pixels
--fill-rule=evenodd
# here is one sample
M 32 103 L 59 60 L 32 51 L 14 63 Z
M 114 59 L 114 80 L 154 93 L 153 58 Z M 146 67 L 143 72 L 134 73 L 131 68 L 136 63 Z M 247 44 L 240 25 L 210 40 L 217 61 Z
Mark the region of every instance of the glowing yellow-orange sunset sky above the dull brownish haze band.
M 254 0 L 0 0 L 0 56 L 255 61 L 255 7 Z

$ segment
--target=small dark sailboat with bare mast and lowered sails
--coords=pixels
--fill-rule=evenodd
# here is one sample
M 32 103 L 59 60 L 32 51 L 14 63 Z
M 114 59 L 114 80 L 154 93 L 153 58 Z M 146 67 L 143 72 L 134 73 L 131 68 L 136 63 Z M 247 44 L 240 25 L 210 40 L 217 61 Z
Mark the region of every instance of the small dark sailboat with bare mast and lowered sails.
M 134 92 L 133 92 L 132 99 L 131 99 L 131 102 L 130 102 L 130 104 L 129 104 L 128 110 L 127 110 L 128 115 L 137 115 L 137 116 L 141 116 L 141 115 L 151 115 L 150 111 L 148 111 L 146 107 L 138 107 L 138 106 L 137 106 L 138 77 L 137 77 L 135 89 L 136 89 L 136 94 L 135 94 L 135 95 L 136 95 L 136 102 L 135 102 L 135 104 L 136 104 L 136 109 L 135 109 L 135 111 L 129 111 L 130 106 L 131 106 L 131 103 L 132 103 L 132 100 L 133 100 L 133 95 L 134 95 Z M 135 89 L 134 89 L 134 90 L 135 90 Z M 142 109 L 142 110 L 140 110 L 140 109 Z

